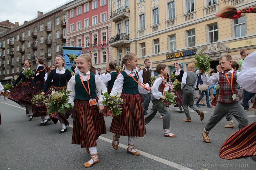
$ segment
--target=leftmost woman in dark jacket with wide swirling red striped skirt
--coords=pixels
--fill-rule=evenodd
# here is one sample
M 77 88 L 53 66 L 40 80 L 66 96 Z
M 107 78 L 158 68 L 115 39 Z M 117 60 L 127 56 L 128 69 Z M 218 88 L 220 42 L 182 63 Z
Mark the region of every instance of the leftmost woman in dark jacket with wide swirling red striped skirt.
M 31 67 L 31 61 L 25 60 L 24 62 L 25 69 L 30 69 Z M 22 80 L 22 83 L 16 84 Z M 14 88 L 10 91 L 8 95 L 8 99 L 15 101 L 18 103 L 21 107 L 27 107 L 27 110 L 29 112 L 29 120 L 32 120 L 33 117 L 33 111 L 32 111 L 32 98 L 33 98 L 33 87 L 34 87 L 34 80 L 28 79 L 24 76 L 22 71 L 20 72 L 19 77 L 16 79 L 16 81 L 12 84 Z

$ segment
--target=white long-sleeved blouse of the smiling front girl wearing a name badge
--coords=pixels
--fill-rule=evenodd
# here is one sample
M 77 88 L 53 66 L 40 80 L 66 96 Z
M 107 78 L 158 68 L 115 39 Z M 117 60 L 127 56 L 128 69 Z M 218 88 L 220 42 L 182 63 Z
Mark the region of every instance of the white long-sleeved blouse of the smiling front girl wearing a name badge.
M 83 81 L 87 81 L 87 77 L 91 75 L 90 71 L 88 71 L 86 73 L 86 75 L 84 76 L 84 74 L 82 72 L 79 71 L 79 75 L 82 77 Z M 104 85 L 104 83 L 102 82 L 102 80 L 98 77 L 98 76 L 94 76 L 95 78 L 95 84 L 96 84 L 96 94 L 99 98 L 98 100 L 98 106 L 102 105 L 102 101 L 103 101 L 103 95 L 101 95 L 101 90 L 102 93 L 106 93 L 107 92 L 107 88 Z M 90 77 L 89 77 L 90 80 Z M 70 81 L 68 81 L 67 84 L 67 91 L 71 90 L 70 95 L 68 96 L 69 98 L 69 102 L 71 103 L 71 105 L 74 107 L 74 100 L 75 100 L 75 76 L 72 76 Z M 85 90 L 85 89 L 81 89 L 81 90 Z

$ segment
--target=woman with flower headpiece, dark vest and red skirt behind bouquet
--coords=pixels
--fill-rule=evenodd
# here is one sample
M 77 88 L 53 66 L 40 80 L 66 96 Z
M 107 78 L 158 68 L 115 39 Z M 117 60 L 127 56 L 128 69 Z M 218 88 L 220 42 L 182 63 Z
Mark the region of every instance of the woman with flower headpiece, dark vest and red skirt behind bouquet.
M 179 75 L 177 77 L 177 80 L 179 80 L 181 82 L 182 76 L 184 74 L 184 71 L 181 70 L 181 63 L 175 62 L 174 63 L 174 68 L 175 68 L 176 71 L 174 71 L 173 74 Z M 179 109 L 180 109 L 179 113 L 181 113 L 182 112 L 182 108 L 181 108 L 182 107 L 182 91 L 181 90 L 180 91 L 174 91 L 174 93 L 177 96 L 175 98 L 177 104 L 174 107 L 179 107 Z

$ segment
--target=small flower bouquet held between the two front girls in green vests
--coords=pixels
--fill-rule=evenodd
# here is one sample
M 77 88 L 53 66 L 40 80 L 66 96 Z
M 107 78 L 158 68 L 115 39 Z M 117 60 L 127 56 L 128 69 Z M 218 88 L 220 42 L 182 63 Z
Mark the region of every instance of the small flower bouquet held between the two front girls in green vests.
M 103 94 L 101 91 L 101 95 L 104 95 L 102 104 L 109 107 L 109 109 L 112 111 L 113 117 L 119 114 L 122 114 L 121 104 L 124 103 L 124 100 L 118 97 L 119 96 L 118 92 L 114 96 L 110 96 L 108 92 Z

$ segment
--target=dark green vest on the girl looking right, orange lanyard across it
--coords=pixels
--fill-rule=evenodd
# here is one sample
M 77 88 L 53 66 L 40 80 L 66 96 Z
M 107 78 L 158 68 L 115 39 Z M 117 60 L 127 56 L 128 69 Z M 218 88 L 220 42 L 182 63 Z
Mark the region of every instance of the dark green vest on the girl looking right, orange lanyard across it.
M 137 75 L 138 72 L 136 71 Z M 123 85 L 123 93 L 126 94 L 138 94 L 139 93 L 139 84 L 134 81 L 133 78 L 131 78 L 129 75 L 126 74 L 125 71 L 122 71 L 121 74 L 124 76 L 124 85 Z M 139 76 L 139 75 L 138 75 Z M 137 76 L 134 76 L 135 80 L 138 81 Z

